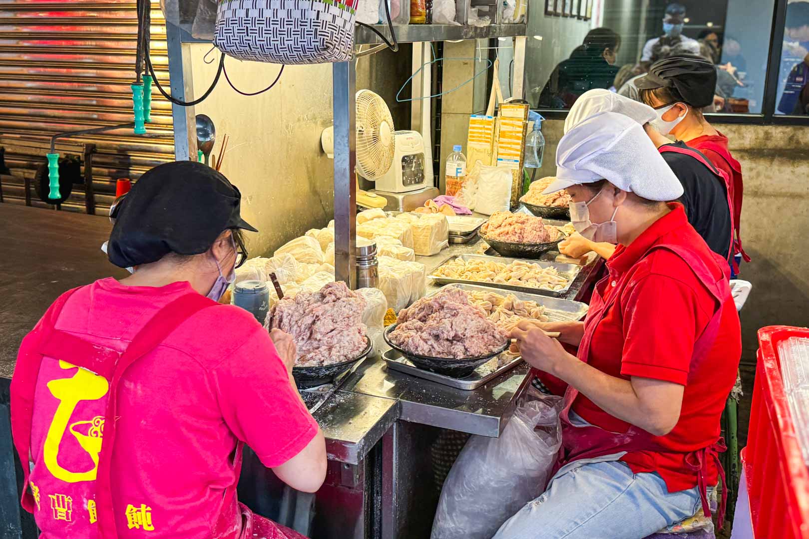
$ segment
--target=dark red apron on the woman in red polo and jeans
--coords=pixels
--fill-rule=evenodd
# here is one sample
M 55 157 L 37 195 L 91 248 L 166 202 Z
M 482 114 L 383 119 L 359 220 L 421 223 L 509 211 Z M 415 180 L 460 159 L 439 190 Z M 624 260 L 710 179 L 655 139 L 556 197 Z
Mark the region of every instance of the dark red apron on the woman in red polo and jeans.
M 705 331 L 703 331 L 702 335 L 700 335 L 700 337 L 697 339 L 697 342 L 694 343 L 693 356 L 691 357 L 691 365 L 693 367 L 694 364 L 697 364 L 704 359 L 705 352 L 707 352 L 709 347 L 711 347 L 711 345 L 714 343 L 714 339 L 718 333 L 720 320 L 722 318 L 722 307 L 726 298 L 731 296 L 730 284 L 728 283 L 726 277 L 726 272 L 729 272 L 729 268 L 726 261 L 720 264 L 720 268 L 722 269 L 722 277 L 716 280 L 709 271 L 705 261 L 694 255 L 693 251 L 689 251 L 683 246 L 663 244 L 652 246 L 650 250 L 646 252 L 646 255 L 648 255 L 650 251 L 653 251 L 654 249 L 667 249 L 668 251 L 680 256 L 680 258 L 683 259 L 685 263 L 688 263 L 688 266 L 692 268 L 693 272 L 697 275 L 697 278 L 702 284 L 705 285 L 705 288 L 709 290 L 711 296 L 714 297 L 718 304 L 718 308 L 714 312 L 713 318 L 710 319 L 708 325 L 705 326 Z M 712 255 L 714 255 L 716 260 L 722 259 L 719 255 L 716 255 L 713 252 Z M 587 363 L 589 360 L 590 344 L 593 334 L 595 333 L 595 328 L 599 325 L 599 322 L 601 322 L 604 315 L 616 301 L 616 293 L 613 293 L 612 295 L 606 293 L 606 297 L 603 297 L 602 293 L 604 293 L 604 289 L 624 289 L 625 284 L 627 284 L 626 281 L 630 279 L 630 276 L 630 272 L 625 272 L 625 274 L 621 276 L 621 282 L 616 284 L 615 287 L 607 286 L 608 281 L 612 279 L 612 277 L 609 275 L 604 277 L 603 280 L 595 285 L 595 290 L 591 298 L 590 310 L 588 311 L 587 319 L 584 322 L 584 336 L 582 337 L 582 343 L 578 348 L 578 358 L 585 363 Z M 629 285 L 631 286 L 631 284 Z M 692 368 L 691 373 L 693 373 L 694 370 L 695 369 Z M 621 452 L 667 451 L 667 449 L 661 447 L 657 442 L 654 441 L 653 435 L 633 425 L 630 425 L 629 430 L 625 433 L 608 432 L 603 428 L 595 427 L 594 425 L 584 427 L 574 426 L 573 423 L 570 422 L 570 409 L 577 396 L 578 390 L 575 390 L 573 387 L 568 385 L 567 390 L 565 390 L 564 406 L 560 414 L 562 423 L 562 452 L 566 453 L 566 457 L 563 456 L 560 459 L 560 466 L 571 461 L 577 461 L 579 459 L 604 457 Z M 725 472 L 722 469 L 722 464 L 719 462 L 718 453 L 722 453 L 725 451 L 725 449 L 726 448 L 722 438 L 717 438 L 713 444 L 694 451 L 693 453 L 689 453 L 687 457 L 691 469 L 697 472 L 697 485 L 700 489 L 702 509 L 706 516 L 711 515 L 706 496 L 708 486 L 705 478 L 707 473 L 707 461 L 712 459 L 716 463 L 719 475 L 722 478 L 722 503 L 719 507 L 720 523 L 722 522 L 725 511 L 726 489 Z

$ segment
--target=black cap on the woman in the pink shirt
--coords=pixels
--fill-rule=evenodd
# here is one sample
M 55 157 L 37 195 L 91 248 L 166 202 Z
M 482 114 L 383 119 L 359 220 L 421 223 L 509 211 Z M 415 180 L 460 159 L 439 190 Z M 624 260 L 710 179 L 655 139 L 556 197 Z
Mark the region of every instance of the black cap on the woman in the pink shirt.
M 225 176 L 202 163 L 155 166 L 116 205 L 109 261 L 130 267 L 169 253 L 199 255 L 226 229 L 258 232 L 239 215 L 241 198 Z

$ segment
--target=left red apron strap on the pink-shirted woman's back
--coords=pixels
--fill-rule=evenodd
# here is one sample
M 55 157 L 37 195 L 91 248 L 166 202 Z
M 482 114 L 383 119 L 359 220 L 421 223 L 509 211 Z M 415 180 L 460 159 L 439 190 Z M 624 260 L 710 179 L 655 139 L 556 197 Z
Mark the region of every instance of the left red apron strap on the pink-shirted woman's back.
M 32 513 L 36 504 L 28 490 L 28 476 L 31 474 L 31 427 L 34 415 L 34 393 L 36 380 L 40 376 L 42 354 L 40 344 L 54 331 L 61 310 L 78 288 L 68 290 L 45 311 L 40 323 L 28 334 L 19 347 L 14 376 L 11 379 L 11 432 L 14 446 L 23 466 L 23 495 L 20 504 Z

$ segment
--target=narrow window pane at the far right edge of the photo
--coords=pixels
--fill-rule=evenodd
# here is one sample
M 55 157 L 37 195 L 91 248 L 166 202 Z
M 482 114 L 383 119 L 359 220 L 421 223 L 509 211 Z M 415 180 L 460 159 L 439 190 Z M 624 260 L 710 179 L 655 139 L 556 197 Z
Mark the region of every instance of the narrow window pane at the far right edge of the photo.
M 809 2 L 789 2 L 778 69 L 775 113 L 809 115 Z

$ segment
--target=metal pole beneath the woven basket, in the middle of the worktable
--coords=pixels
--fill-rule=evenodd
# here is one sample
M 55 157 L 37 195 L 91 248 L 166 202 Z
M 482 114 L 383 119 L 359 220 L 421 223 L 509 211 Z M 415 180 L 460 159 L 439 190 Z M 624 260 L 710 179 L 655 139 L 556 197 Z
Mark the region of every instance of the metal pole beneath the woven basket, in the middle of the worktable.
M 334 102 L 334 276 L 357 288 L 356 61 L 332 66 Z

